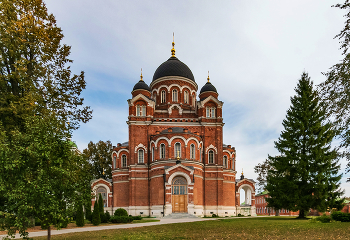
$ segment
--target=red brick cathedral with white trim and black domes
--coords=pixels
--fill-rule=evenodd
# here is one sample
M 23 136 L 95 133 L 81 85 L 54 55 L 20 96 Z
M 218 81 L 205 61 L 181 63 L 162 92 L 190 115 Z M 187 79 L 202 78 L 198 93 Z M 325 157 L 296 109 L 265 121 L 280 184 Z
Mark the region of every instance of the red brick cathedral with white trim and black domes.
M 208 75 L 197 96 L 192 71 L 175 56 L 174 45 L 149 86 L 141 73 L 128 100 L 129 141 L 113 147 L 112 179 L 92 181 L 92 190 L 111 213 L 256 215 L 254 181 L 243 173 L 236 179 L 236 150 L 223 143 L 217 89 Z

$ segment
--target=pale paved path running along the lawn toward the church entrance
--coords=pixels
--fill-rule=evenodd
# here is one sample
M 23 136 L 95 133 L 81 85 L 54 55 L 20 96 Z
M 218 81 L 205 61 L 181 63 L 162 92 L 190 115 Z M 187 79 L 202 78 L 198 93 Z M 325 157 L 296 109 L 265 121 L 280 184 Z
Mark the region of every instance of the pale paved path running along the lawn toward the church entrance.
M 207 220 L 216 220 L 216 218 L 182 218 L 182 219 L 161 218 L 159 222 L 116 224 L 116 225 L 108 225 L 108 226 L 51 230 L 51 236 L 58 235 L 58 234 L 74 233 L 74 232 L 89 232 L 89 231 L 99 231 L 99 230 L 108 230 L 108 229 L 147 227 L 147 226 L 162 225 L 162 224 L 198 222 L 198 221 L 207 221 Z M 5 236 L 6 235 L 0 235 L 0 239 L 3 239 L 3 237 L 5 237 Z M 41 237 L 41 236 L 47 236 L 47 231 L 30 232 L 29 233 L 29 237 Z M 16 234 L 15 238 L 20 238 L 19 234 Z

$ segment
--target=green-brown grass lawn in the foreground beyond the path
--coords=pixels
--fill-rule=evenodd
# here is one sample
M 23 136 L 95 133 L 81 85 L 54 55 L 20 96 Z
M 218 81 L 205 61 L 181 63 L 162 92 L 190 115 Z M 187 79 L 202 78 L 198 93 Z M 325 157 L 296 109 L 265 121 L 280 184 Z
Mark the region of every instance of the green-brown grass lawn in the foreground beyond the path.
M 320 223 L 290 217 L 233 218 L 71 233 L 55 235 L 52 239 L 350 239 L 350 223 Z

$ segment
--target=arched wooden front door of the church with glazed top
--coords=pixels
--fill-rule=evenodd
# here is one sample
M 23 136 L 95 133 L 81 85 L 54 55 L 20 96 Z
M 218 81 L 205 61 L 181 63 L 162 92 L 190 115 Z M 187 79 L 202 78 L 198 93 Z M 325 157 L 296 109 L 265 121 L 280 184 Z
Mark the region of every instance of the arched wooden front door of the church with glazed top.
M 171 183 L 171 204 L 173 212 L 187 212 L 187 181 L 175 177 Z

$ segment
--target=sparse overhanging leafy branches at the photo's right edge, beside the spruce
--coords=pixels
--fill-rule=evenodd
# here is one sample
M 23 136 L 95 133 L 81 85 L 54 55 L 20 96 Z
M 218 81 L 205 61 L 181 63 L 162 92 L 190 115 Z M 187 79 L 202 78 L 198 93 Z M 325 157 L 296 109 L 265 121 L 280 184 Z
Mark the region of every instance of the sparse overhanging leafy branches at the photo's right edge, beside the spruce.
M 328 116 L 334 119 L 337 135 L 342 139 L 340 147 L 344 149 L 342 157 L 348 161 L 346 172 L 350 172 L 350 1 L 336 4 L 346 10 L 346 22 L 344 29 L 335 36 L 340 40 L 340 48 L 343 50 L 344 59 L 335 64 L 325 74 L 327 80 L 320 84 L 320 96 Z M 350 178 L 348 178 L 350 181 Z

